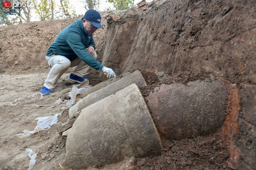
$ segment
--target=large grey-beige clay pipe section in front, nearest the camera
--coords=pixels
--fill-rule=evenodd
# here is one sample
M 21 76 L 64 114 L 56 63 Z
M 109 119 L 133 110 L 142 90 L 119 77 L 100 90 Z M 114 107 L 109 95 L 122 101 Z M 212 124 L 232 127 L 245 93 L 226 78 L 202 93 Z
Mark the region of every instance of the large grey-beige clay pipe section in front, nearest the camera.
M 69 131 L 66 164 L 81 169 L 161 153 L 161 140 L 136 84 L 84 108 Z

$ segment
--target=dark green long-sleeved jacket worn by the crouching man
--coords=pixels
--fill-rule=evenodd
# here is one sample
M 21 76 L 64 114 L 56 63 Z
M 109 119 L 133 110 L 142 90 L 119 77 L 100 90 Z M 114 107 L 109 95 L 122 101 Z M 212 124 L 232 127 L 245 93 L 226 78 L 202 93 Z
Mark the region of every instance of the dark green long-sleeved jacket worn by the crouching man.
M 101 70 L 103 65 L 86 50 L 89 46 L 95 48 L 93 36 L 87 34 L 87 31 L 83 28 L 82 20 L 79 19 L 58 34 L 49 47 L 46 56 L 61 55 L 71 61 L 79 57 L 94 69 Z

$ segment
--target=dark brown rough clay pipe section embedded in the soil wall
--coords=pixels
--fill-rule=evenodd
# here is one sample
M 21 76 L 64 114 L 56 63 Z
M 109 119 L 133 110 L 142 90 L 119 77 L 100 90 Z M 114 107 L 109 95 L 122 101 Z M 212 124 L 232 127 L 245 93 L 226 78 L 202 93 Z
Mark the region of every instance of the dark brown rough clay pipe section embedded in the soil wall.
M 227 87 L 219 81 L 162 84 L 146 97 L 162 138 L 181 139 L 217 132 L 226 116 Z

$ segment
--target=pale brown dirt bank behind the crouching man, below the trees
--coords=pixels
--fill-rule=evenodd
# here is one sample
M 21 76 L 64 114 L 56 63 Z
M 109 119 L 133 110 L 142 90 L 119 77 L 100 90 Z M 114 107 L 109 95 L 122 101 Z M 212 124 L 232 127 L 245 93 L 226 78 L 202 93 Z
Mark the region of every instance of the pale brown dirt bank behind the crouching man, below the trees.
M 105 15 L 101 15 L 102 26 L 106 29 Z M 45 59 L 49 46 L 63 28 L 81 17 L 0 27 L 0 72 L 45 72 L 49 67 Z M 94 35 L 99 61 L 102 58 L 105 29 L 97 30 Z

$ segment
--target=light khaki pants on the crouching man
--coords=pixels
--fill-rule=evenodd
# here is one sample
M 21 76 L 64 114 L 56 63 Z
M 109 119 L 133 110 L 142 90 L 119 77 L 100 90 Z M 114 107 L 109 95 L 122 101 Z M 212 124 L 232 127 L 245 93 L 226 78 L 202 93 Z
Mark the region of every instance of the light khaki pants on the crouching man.
M 95 59 L 97 58 L 97 54 L 95 52 L 93 54 L 93 57 Z M 83 77 L 84 75 L 86 75 L 87 71 L 90 68 L 90 66 L 84 63 L 79 57 L 77 57 L 73 61 L 70 61 L 65 56 L 52 55 L 50 57 L 46 56 L 46 60 L 51 67 L 51 70 L 47 76 L 44 86 L 50 90 L 54 88 L 60 76 L 62 76 L 69 67 L 76 66 L 73 74 L 79 77 Z

